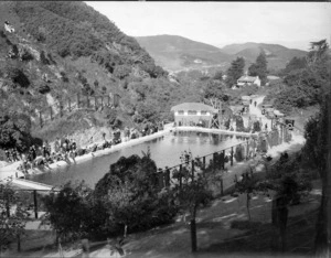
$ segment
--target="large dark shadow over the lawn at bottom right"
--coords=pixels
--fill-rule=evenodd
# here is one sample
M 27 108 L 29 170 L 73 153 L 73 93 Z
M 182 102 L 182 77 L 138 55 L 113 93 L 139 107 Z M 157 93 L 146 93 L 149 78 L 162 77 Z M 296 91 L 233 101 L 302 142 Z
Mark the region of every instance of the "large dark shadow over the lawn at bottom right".
M 199 250 L 201 254 L 220 254 L 224 256 L 249 255 L 254 256 L 300 256 L 310 257 L 313 250 L 313 236 L 316 234 L 316 211 L 308 214 L 290 217 L 287 227 L 287 248 L 285 252 L 275 248 L 275 232 L 270 223 L 234 221 L 232 228 L 245 230 L 241 236 L 228 238 L 225 241 L 212 244 Z M 276 244 L 277 245 L 277 244 Z

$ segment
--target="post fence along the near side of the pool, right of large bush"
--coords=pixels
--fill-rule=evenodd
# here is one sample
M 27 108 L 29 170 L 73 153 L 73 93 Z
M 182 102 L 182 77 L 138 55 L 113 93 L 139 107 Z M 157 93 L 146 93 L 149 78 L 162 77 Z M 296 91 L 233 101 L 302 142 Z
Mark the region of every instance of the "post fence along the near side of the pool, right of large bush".
M 220 182 L 221 192 L 223 194 L 223 186 L 229 186 L 223 185 L 223 175 L 231 166 L 241 161 L 254 159 L 256 150 L 266 152 L 267 146 L 274 147 L 290 140 L 288 128 L 282 123 L 280 123 L 279 127 L 280 131 L 275 130 L 266 136 L 258 138 L 254 137 L 249 140 L 246 137 L 245 141 L 224 148 L 214 153 L 197 157 L 195 159 L 190 159 L 188 157 L 185 162 L 178 165 L 166 168 L 163 170 L 159 169 L 157 173 L 158 187 L 161 190 L 177 185 L 181 189 L 183 180 L 188 180 L 188 178 L 194 180 L 196 174 L 203 173 L 206 175 L 205 173 L 207 173 L 209 175 L 213 175 L 212 180 Z M 245 139 L 245 137 L 243 138 Z

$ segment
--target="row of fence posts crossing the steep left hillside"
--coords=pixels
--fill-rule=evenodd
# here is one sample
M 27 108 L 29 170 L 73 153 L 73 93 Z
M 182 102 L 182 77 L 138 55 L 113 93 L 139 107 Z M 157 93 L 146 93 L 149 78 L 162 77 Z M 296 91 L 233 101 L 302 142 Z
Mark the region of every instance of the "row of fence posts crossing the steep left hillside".
M 76 94 L 76 98 L 65 98 L 58 100 L 56 104 L 50 105 L 47 108 L 39 110 L 39 123 L 42 128 L 46 122 L 53 121 L 63 117 L 65 114 L 70 114 L 73 110 L 77 109 L 92 109 L 98 110 L 99 108 L 107 107 L 117 107 L 119 105 L 119 95 L 109 94 L 109 95 L 81 95 Z

